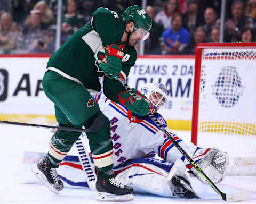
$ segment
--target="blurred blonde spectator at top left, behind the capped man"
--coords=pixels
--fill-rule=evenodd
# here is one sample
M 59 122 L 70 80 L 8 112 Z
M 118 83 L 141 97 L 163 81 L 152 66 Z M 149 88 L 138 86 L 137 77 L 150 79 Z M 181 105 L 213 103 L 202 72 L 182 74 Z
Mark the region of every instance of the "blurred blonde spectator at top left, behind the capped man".
M 51 25 L 54 22 L 53 12 L 47 6 L 45 1 L 37 2 L 33 9 L 40 11 L 40 19 L 43 29 L 49 27 L 49 25 Z

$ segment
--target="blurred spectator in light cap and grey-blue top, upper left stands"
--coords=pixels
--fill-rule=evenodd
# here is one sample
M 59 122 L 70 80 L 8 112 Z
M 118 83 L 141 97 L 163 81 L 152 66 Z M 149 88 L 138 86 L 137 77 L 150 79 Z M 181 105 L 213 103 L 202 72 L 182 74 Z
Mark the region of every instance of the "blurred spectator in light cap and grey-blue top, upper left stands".
M 24 25 L 18 36 L 17 52 L 33 53 L 43 41 L 40 14 L 38 10 L 32 10 L 28 18 L 28 25 Z

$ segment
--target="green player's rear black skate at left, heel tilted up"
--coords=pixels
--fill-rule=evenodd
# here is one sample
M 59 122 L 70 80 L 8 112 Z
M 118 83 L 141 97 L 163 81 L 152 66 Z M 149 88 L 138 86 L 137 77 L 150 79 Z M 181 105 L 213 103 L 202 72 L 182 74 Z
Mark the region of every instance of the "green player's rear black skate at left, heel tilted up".
M 52 168 L 48 157 L 41 159 L 31 171 L 55 194 L 59 194 L 64 188 L 56 168 Z

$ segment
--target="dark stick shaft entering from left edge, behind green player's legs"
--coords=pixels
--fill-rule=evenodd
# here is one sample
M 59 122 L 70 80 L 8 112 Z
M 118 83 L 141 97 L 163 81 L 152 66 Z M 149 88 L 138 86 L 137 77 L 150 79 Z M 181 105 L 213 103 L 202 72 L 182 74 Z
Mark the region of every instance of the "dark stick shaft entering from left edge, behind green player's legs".
M 74 131 L 74 132 L 87 132 L 87 129 L 75 129 L 75 128 L 67 128 L 67 127 L 57 127 L 51 125 L 39 125 L 39 124 L 30 124 L 30 123 L 19 123 L 19 122 L 12 122 L 12 121 L 0 121 L 0 123 L 6 123 L 10 125 L 22 125 L 22 126 L 31 126 L 36 128 L 50 128 L 50 129 L 58 129 L 58 130 L 65 130 L 65 131 Z

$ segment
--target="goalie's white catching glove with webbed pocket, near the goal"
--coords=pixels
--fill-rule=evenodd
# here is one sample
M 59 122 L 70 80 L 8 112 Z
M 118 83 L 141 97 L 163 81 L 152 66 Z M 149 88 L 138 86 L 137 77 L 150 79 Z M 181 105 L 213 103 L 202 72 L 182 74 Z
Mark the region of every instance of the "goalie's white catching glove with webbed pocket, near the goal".
M 213 183 L 220 183 L 226 174 L 227 165 L 229 163 L 228 154 L 227 152 L 221 151 L 219 148 L 209 149 L 198 148 L 191 143 L 189 146 L 189 156 Z M 188 160 L 185 159 L 184 162 L 188 166 Z M 193 173 L 201 182 L 207 183 L 197 171 Z

